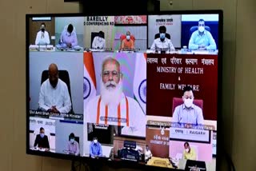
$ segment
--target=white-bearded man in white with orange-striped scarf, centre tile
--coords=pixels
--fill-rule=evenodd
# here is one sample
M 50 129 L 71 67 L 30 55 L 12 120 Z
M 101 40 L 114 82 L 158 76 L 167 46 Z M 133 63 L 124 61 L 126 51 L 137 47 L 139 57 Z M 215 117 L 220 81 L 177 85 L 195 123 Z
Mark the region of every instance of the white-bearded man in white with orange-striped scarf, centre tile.
M 114 58 L 106 58 L 101 73 L 101 93 L 86 102 L 85 122 L 124 126 L 123 133 L 145 136 L 145 113 L 138 101 L 122 93 L 120 63 Z

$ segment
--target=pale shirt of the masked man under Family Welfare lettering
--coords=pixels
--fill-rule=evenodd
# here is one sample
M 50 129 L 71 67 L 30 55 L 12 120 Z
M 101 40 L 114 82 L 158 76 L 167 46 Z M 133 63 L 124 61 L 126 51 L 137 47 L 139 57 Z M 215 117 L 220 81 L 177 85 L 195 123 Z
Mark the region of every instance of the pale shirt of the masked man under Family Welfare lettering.
M 203 125 L 202 109 L 194 104 L 190 109 L 187 109 L 184 104 L 178 105 L 174 109 L 172 122 Z

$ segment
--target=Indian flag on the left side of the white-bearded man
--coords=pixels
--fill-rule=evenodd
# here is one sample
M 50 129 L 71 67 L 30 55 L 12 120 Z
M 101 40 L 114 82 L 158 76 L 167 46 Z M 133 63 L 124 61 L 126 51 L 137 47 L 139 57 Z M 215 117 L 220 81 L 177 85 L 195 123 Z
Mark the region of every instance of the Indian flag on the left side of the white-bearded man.
M 90 100 L 96 96 L 96 78 L 94 70 L 94 58 L 92 53 L 83 54 L 84 74 L 83 74 L 83 101 Z

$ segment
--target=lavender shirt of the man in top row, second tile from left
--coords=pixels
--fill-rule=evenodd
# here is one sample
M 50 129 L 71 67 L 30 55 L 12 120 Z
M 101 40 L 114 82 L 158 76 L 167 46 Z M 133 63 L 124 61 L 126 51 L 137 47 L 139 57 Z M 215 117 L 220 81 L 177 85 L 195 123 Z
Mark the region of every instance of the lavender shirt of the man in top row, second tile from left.
M 71 46 L 78 46 L 78 38 L 77 34 L 73 30 L 71 34 L 67 32 L 67 30 L 62 31 L 62 35 L 60 38 L 60 42 L 62 43 L 62 46 L 65 46 L 67 43 L 71 43 Z

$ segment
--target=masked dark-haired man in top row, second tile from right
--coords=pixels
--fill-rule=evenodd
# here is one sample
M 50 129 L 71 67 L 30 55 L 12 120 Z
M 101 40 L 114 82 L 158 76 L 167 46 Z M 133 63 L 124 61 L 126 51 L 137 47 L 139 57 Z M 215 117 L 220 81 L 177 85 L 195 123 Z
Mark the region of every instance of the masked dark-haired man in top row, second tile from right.
M 166 38 L 166 26 L 159 27 L 160 38 L 154 39 L 150 50 L 175 50 L 174 45 Z

